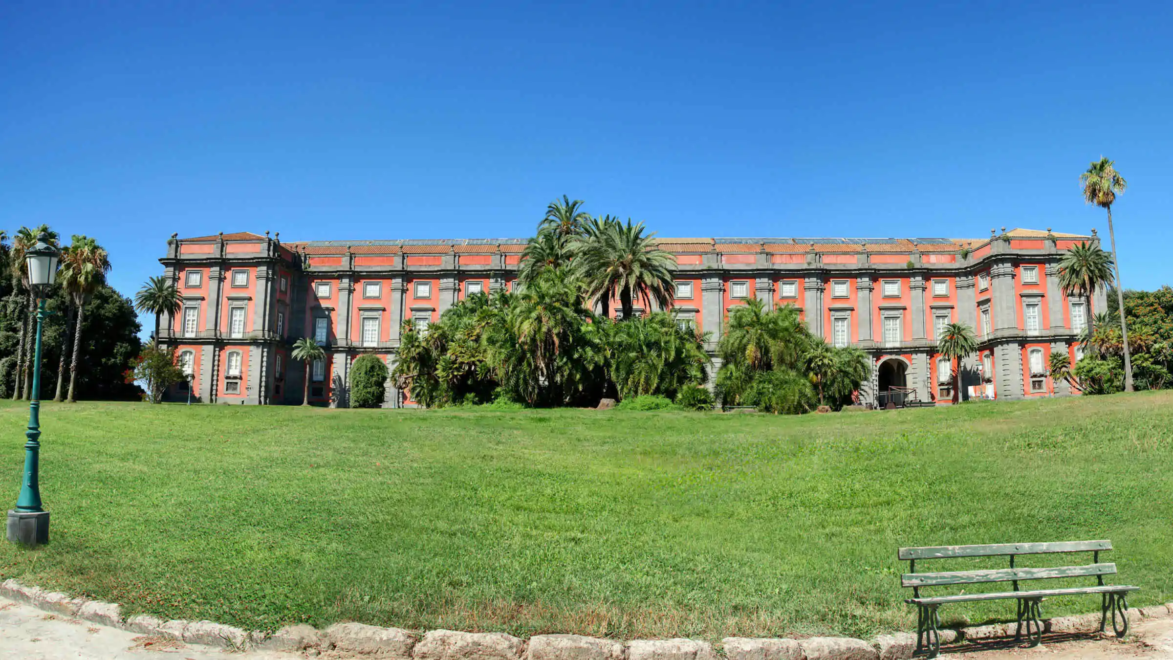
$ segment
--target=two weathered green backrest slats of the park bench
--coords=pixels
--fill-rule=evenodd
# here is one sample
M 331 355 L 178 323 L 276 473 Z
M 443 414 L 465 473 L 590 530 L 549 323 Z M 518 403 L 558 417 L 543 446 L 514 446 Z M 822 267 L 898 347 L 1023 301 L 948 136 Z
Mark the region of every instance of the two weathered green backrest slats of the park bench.
M 1100 564 L 1099 553 L 1112 550 L 1112 541 L 1062 541 L 1062 543 L 1017 543 L 991 545 L 942 545 L 930 547 L 902 547 L 897 557 L 908 561 L 908 573 L 901 575 L 901 586 L 911 587 L 914 597 L 920 598 L 921 587 L 947 585 L 972 585 L 981 582 L 1013 582 L 1018 591 L 1019 580 L 1045 580 L 1055 578 L 1094 577 L 1097 584 L 1104 584 L 1104 575 L 1116 573 L 1116 564 Z M 1091 552 L 1092 563 L 1082 566 L 1055 566 L 1049 568 L 1021 568 L 1015 566 L 1015 558 L 1021 554 L 1058 554 L 1069 552 Z M 982 571 L 948 571 L 917 573 L 916 561 L 925 559 L 950 559 L 956 557 L 1009 557 L 1009 568 L 989 568 Z

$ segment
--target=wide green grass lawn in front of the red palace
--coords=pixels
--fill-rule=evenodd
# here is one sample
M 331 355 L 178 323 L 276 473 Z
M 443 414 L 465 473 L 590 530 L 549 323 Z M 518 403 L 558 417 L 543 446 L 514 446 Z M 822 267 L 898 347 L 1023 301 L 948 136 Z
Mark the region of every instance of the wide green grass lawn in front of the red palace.
M 26 416 L 0 404 L 8 506 Z M 1133 605 L 1173 600 L 1169 392 L 804 417 L 81 403 L 42 420 L 53 543 L 0 544 L 0 577 L 130 612 L 867 635 L 914 626 L 897 546 L 1099 538 L 1144 587 Z

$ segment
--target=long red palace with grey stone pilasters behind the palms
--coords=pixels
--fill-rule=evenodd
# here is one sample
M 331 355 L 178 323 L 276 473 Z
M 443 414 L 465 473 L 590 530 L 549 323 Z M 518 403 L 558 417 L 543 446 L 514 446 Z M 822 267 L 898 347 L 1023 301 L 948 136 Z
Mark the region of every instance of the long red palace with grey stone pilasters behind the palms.
M 526 240 L 310 241 L 219 234 L 168 241 L 161 263 L 182 295 L 158 341 L 174 346 L 201 402 L 299 404 L 305 365 L 291 344 L 313 337 L 326 358 L 310 365 L 310 399 L 346 405 L 350 365 L 362 353 L 395 363 L 405 322 L 426 326 L 465 296 L 514 287 Z M 658 238 L 676 255 L 682 322 L 710 332 L 713 355 L 728 311 L 758 298 L 795 305 L 809 329 L 873 358 L 862 403 L 952 398 L 952 364 L 936 352 L 941 329 L 969 325 L 978 352 L 960 365 L 961 398 L 1072 393 L 1047 373 L 1052 352 L 1082 355 L 1078 335 L 1096 299 L 1069 297 L 1058 265 L 1070 247 L 1099 238 L 1003 230 L 952 238 Z M 612 305 L 615 309 L 617 305 Z M 644 310 L 639 310 L 640 312 Z M 713 359 L 713 373 L 719 368 Z M 187 384 L 171 392 L 185 398 Z M 413 405 L 387 388 L 385 406 Z

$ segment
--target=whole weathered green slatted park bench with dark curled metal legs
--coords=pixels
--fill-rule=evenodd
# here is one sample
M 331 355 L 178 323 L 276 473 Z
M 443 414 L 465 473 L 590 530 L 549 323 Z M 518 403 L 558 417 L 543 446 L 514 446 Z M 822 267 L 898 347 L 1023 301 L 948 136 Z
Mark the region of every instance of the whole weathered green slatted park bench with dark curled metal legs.
M 1065 543 L 1019 543 L 994 545 L 945 545 L 937 547 L 902 547 L 899 557 L 908 561 L 908 573 L 901 575 L 901 586 L 913 588 L 913 598 L 904 602 L 916 606 L 916 653 L 928 652 L 936 658 L 941 652 L 941 618 L 937 607 L 947 602 L 967 602 L 974 600 L 1015 599 L 1018 601 L 1018 626 L 1015 640 L 1021 639 L 1025 627 L 1031 646 L 1043 642 L 1043 620 L 1040 602 L 1044 598 L 1070 594 L 1100 594 L 1100 632 L 1112 613 L 1112 631 L 1117 637 L 1128 632 L 1128 602 L 1125 594 L 1140 587 L 1105 585 L 1104 575 L 1116 574 L 1116 564 L 1100 564 L 1099 553 L 1112 550 L 1112 541 L 1065 541 Z M 1050 568 L 1025 568 L 1015 565 L 1015 558 L 1024 554 L 1055 554 L 1070 552 L 1091 552 L 1092 563 L 1083 566 L 1056 566 Z M 952 571 L 917 573 L 917 560 L 949 559 L 957 557 L 1009 557 L 1009 568 L 991 568 L 984 571 Z M 1018 582 L 1024 580 L 1044 580 L 1094 577 L 1091 586 L 1057 587 L 1035 591 L 1021 591 Z M 1013 582 L 1012 591 L 958 593 L 952 595 L 922 595 L 925 587 L 944 587 L 950 585 L 976 585 L 983 582 Z M 1117 618 L 1120 622 L 1117 622 Z

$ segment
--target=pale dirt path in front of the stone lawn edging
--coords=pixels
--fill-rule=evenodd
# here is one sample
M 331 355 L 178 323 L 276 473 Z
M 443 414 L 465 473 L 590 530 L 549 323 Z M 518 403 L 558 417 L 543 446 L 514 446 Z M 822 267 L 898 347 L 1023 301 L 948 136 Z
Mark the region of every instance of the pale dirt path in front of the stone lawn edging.
M 951 660 L 1173 660 L 1173 618 L 1138 621 L 1128 639 L 1047 635 L 1037 648 L 1005 641 L 974 642 L 947 652 Z M 0 598 L 0 660 L 300 660 L 301 654 L 231 653 L 150 638 L 48 614 Z M 343 658 L 335 653 L 320 656 Z

